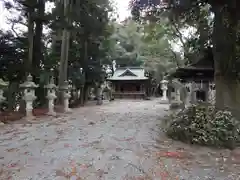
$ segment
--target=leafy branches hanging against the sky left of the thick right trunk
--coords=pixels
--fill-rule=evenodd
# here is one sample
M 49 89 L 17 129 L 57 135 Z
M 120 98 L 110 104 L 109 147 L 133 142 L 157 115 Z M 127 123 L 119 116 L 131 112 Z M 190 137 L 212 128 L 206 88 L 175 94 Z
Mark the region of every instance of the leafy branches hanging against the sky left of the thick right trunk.
M 187 3 L 186 3 L 187 2 Z M 132 0 L 130 8 L 133 16 L 142 22 L 152 22 L 159 25 L 166 24 L 166 34 L 172 43 L 179 44 L 186 63 L 192 63 L 195 55 L 199 56 L 202 50 L 212 44 L 211 23 L 213 18 L 210 6 L 205 2 L 197 1 L 159 1 Z M 136 13 L 139 11 L 139 13 Z M 145 13 L 140 13 L 145 12 Z M 186 32 L 194 29 L 195 32 Z

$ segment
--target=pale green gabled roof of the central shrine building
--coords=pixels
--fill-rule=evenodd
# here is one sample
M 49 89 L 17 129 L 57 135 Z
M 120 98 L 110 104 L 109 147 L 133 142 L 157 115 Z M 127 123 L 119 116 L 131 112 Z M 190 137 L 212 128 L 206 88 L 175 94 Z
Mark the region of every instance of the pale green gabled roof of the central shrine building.
M 145 71 L 140 67 L 117 68 L 108 80 L 147 80 Z

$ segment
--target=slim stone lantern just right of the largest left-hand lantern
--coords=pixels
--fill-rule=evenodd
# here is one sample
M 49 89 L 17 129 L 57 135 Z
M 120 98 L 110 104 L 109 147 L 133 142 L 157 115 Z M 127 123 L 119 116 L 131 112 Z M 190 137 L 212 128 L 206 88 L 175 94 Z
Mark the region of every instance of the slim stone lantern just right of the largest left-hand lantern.
M 54 84 L 54 77 L 50 79 L 50 82 L 45 85 L 44 88 L 47 89 L 46 98 L 48 99 L 48 114 L 51 116 L 56 116 L 56 112 L 54 111 L 54 100 L 57 98 L 57 86 Z

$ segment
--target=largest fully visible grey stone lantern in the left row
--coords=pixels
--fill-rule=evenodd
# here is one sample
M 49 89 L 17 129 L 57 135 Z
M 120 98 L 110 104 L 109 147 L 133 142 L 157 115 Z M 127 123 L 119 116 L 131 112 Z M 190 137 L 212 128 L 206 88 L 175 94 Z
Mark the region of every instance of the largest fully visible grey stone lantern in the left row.
M 33 82 L 33 78 L 31 74 L 29 74 L 27 80 L 23 84 L 20 84 L 20 87 L 24 89 L 23 99 L 26 103 L 26 118 L 32 120 L 33 101 L 37 98 L 35 96 L 35 89 L 39 86 Z

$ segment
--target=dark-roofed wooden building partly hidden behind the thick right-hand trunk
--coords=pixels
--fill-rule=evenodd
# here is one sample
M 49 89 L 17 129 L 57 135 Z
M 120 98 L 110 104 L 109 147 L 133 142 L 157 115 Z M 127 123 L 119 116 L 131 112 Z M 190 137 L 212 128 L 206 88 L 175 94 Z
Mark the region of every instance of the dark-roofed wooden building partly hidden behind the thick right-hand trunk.
M 186 67 L 181 67 L 170 75 L 171 78 L 176 78 L 184 84 L 189 84 L 187 87 L 191 94 L 191 102 L 198 100 L 210 101 L 212 99 L 212 86 L 214 83 L 214 60 L 212 49 L 208 48 L 199 57 L 195 63 Z

